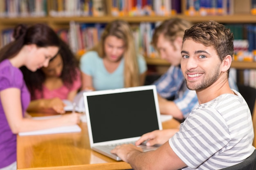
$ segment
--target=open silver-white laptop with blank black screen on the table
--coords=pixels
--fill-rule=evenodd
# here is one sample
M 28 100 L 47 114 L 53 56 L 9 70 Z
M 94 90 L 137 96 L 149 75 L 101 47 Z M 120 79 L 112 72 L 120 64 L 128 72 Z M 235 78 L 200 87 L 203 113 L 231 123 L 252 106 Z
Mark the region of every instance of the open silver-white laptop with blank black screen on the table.
M 135 143 L 147 132 L 162 130 L 155 85 L 85 92 L 83 97 L 90 147 L 112 159 L 121 160 L 110 153 L 116 145 Z

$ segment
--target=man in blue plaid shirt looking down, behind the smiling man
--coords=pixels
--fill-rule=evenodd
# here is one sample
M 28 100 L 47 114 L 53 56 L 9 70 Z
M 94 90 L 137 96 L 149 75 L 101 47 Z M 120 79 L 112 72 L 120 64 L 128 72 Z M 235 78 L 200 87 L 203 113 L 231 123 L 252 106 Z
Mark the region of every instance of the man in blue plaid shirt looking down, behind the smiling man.
M 181 18 L 170 18 L 155 28 L 152 38 L 159 56 L 171 64 L 168 71 L 153 83 L 157 88 L 160 113 L 172 115 L 179 120 L 186 119 L 193 108 L 198 106 L 196 93 L 186 87 L 180 68 L 182 38 L 184 31 L 192 25 Z M 238 90 L 232 77 L 229 78 L 229 85 Z M 174 99 L 168 100 L 169 98 Z M 154 141 L 149 143 L 155 144 Z

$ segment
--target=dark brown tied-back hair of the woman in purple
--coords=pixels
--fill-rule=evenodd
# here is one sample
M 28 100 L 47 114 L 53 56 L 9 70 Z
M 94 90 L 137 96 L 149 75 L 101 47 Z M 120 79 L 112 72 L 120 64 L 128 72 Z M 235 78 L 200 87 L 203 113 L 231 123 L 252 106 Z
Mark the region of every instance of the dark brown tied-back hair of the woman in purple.
M 27 27 L 18 24 L 13 30 L 14 41 L 0 50 L 0 62 L 14 57 L 24 45 L 36 44 L 37 47 L 60 46 L 58 35 L 46 24 Z

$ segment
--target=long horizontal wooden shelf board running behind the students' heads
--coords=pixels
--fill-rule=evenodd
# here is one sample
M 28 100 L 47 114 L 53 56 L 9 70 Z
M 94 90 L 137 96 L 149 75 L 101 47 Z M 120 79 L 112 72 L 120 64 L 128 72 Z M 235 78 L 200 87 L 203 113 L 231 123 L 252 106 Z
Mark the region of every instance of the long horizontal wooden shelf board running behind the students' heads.
M 236 15 L 211 15 L 211 16 L 187 16 L 187 15 L 173 15 L 173 16 L 102 16 L 102 17 L 27 17 L 27 18 L 0 18 L 2 24 L 17 24 L 17 23 L 34 23 L 34 22 L 54 22 L 56 24 L 75 22 L 110 22 L 112 20 L 120 19 L 127 22 L 158 22 L 172 17 L 183 18 L 193 23 L 216 20 L 220 23 L 256 23 L 256 15 L 250 14 L 236 14 Z

